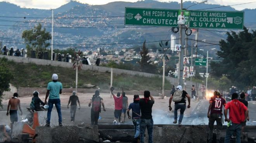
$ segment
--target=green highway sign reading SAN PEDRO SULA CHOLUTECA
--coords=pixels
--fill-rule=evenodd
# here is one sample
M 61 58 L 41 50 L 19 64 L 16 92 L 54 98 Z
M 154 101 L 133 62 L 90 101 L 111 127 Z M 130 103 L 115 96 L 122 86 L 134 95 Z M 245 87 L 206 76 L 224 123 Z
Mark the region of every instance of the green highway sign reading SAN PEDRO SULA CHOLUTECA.
M 125 7 L 125 25 L 178 27 L 178 10 Z

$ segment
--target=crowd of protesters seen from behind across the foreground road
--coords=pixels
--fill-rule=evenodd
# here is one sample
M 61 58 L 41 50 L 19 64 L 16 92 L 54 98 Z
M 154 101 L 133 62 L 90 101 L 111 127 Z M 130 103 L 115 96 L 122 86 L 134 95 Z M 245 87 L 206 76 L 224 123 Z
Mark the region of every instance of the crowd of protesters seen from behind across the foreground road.
M 193 86 L 194 87 L 194 86 Z M 194 94 L 194 88 L 192 87 L 192 94 Z M 255 88 L 255 87 L 254 87 Z M 153 96 L 150 91 L 144 91 L 144 97 L 140 98 L 139 95 L 133 96 L 133 103 L 128 104 L 128 97 L 122 90 L 122 93 L 114 92 L 114 87 L 110 89 L 112 97 L 114 99 L 114 124 L 120 124 L 125 122 L 126 114 L 128 119 L 132 119 L 134 125 L 134 141 L 135 143 L 144 143 L 145 129 L 147 128 L 148 141 L 153 142 L 153 118 L 152 118 L 152 107 L 155 103 Z M 43 111 L 40 104 L 48 105 L 47 109 L 47 121 L 45 126 L 50 126 L 50 118 L 53 105 L 57 109 L 59 117 L 59 126 L 62 124 L 62 114 L 61 114 L 61 100 L 60 94 L 62 93 L 62 83 L 58 81 L 58 75 L 52 75 L 52 81 L 47 85 L 47 93 L 45 96 L 45 102 L 43 102 L 39 97 L 39 92 L 33 92 L 33 98 L 30 104 L 30 108 L 35 111 Z M 106 111 L 103 99 L 99 96 L 100 92 L 95 91 L 95 94 L 90 99 L 88 104 L 91 108 L 91 124 L 97 125 L 99 120 L 99 114 L 101 108 Z M 195 95 L 195 94 L 194 94 Z M 47 102 L 48 99 L 48 102 Z M 188 101 L 188 104 L 187 102 Z M 174 121 L 173 123 L 178 123 L 178 126 L 182 126 L 183 114 L 186 108 L 190 108 L 190 96 L 187 91 L 182 89 L 182 86 L 173 86 L 172 93 L 169 99 L 169 110 L 171 111 L 171 103 L 174 102 Z M 67 108 L 70 104 L 70 118 L 71 122 L 75 121 L 75 114 L 77 109 L 77 103 L 79 104 L 78 109 L 80 109 L 80 101 L 77 96 L 76 91 L 73 91 L 72 95 L 69 97 Z M 187 104 L 187 105 L 186 105 Z M 224 107 L 224 117 L 225 121 L 228 122 L 225 143 L 230 142 L 231 136 L 235 133 L 237 143 L 240 143 L 240 136 L 246 125 L 246 121 L 249 121 L 249 111 L 248 102 L 246 101 L 246 93 L 239 94 L 232 93 L 232 100 L 226 103 L 225 99 L 218 91 L 214 91 L 213 96 L 209 100 L 209 108 L 207 117 L 209 118 L 209 143 L 213 141 L 213 128 L 214 122 L 217 124 L 217 139 L 220 139 L 220 130 L 222 128 L 222 107 Z M 18 121 L 18 108 L 22 114 L 20 100 L 18 99 L 18 94 L 14 93 L 13 97 L 9 100 L 7 106 L 7 116 L 10 114 L 10 121 L 13 124 Z M 178 119 L 178 110 L 180 109 L 180 116 Z M 229 110 L 229 117 L 227 116 L 227 111 Z M 130 116 L 130 111 L 132 112 Z M 123 114 L 123 117 L 121 115 Z M 11 126 L 12 126 L 11 124 Z

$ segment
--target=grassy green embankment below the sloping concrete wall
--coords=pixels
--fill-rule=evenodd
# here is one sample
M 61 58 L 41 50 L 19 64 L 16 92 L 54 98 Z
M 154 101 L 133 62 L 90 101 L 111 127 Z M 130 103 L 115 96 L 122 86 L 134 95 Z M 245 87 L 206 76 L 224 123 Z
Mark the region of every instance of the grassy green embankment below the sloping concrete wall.
M 14 78 L 11 84 L 16 87 L 46 87 L 51 81 L 53 73 L 58 74 L 59 81 L 64 88 L 75 87 L 75 70 L 63 67 L 40 66 L 36 64 L 22 64 L 12 61 L 6 61 L 10 74 Z M 109 89 L 110 86 L 109 72 L 78 72 L 78 88 L 86 88 L 85 84 L 97 85 L 100 89 Z M 116 89 L 123 87 L 125 90 L 161 90 L 161 77 L 141 77 L 130 75 L 113 75 L 113 86 Z M 166 81 L 165 89 L 170 89 L 171 84 Z

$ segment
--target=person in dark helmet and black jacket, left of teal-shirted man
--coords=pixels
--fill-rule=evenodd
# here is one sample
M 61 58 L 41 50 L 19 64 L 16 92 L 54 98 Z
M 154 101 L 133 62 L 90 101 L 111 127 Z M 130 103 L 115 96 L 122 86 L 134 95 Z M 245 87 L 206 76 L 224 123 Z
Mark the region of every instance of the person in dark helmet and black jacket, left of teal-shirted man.
M 39 98 L 39 92 L 33 92 L 33 98 L 30 103 L 30 109 L 35 111 L 45 111 L 45 109 L 41 108 L 40 105 L 45 105 L 45 103 Z

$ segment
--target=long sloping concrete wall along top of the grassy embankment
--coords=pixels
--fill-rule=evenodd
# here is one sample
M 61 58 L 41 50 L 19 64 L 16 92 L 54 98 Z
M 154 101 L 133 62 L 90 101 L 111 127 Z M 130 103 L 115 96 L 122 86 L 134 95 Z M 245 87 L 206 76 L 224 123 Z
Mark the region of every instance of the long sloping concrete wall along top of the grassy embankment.
M 44 60 L 44 59 L 34 59 L 34 58 L 5 56 L 5 55 L 0 55 L 0 58 L 1 57 L 5 57 L 10 61 L 22 62 L 22 63 L 26 63 L 26 64 L 34 63 L 34 64 L 38 64 L 38 65 L 51 65 L 51 66 L 59 66 L 59 67 L 66 67 L 66 68 L 71 68 L 73 66 L 73 63 L 70 63 L 70 62 L 59 62 L 59 61 L 51 61 L 51 60 Z M 109 72 L 109 73 L 111 72 L 110 67 L 101 67 L 101 66 L 83 65 L 82 69 L 89 70 L 89 71 L 97 71 L 97 72 Z M 144 76 L 144 77 L 154 77 L 154 76 L 162 77 L 157 74 L 150 74 L 150 73 L 138 72 L 138 71 L 129 71 L 129 70 L 125 70 L 125 69 L 114 69 L 114 68 L 113 68 L 113 73 L 114 74 L 128 74 L 128 75 L 133 75 L 133 76 L 138 75 L 138 76 Z M 177 86 L 179 83 L 179 80 L 177 78 L 173 78 L 173 77 L 166 76 L 166 80 L 175 86 Z M 196 83 L 187 81 L 186 90 L 189 91 L 192 88 L 192 85 L 196 85 Z M 184 85 L 182 87 L 184 87 Z M 201 87 L 201 84 L 198 84 L 198 87 Z M 170 89 L 171 89 L 171 87 L 170 87 Z

